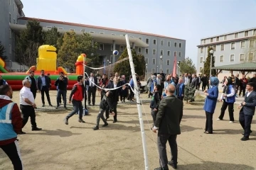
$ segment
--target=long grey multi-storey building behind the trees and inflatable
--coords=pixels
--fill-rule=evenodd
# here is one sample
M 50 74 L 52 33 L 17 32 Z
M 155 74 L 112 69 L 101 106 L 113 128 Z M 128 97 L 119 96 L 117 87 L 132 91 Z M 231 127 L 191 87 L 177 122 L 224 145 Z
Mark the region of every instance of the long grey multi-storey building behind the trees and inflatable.
M 11 6 L 8 1 L 5 2 L 5 7 L 2 8 Z M 3 13 L 3 15 L 0 15 L 0 21 L 3 20 L 2 18 L 6 18 L 6 13 L 9 13 L 9 11 L 6 11 Z M 58 28 L 60 33 L 65 33 L 67 31 L 75 31 L 75 33 L 78 35 L 82 33 L 90 33 L 93 40 L 99 44 L 98 54 L 100 54 L 102 62 L 109 60 L 111 63 L 114 63 L 118 60 L 118 57 L 122 55 L 122 52 L 126 47 L 124 35 L 128 34 L 132 48 L 136 50 L 137 54 L 144 55 L 147 64 L 146 71 L 148 74 L 151 72 L 161 72 L 160 68 L 162 68 L 163 72 L 171 73 L 174 63 L 174 55 L 176 55 L 178 61 L 185 59 L 186 40 L 170 38 L 163 35 L 155 35 L 152 33 L 106 28 L 102 26 L 89 26 L 80 23 L 68 23 L 65 21 L 28 18 L 24 17 L 24 15 L 19 16 L 18 20 L 16 20 L 18 23 L 7 20 L 7 22 L 5 22 L 6 29 L 9 29 L 11 32 L 18 32 L 26 29 L 26 23 L 33 20 L 39 21 L 43 27 L 43 30 L 49 30 L 50 28 L 55 27 Z M 6 30 L 1 30 L 1 33 L 6 34 Z M 6 38 L 6 35 L 2 41 L 4 41 L 5 46 L 14 43 L 14 41 Z M 113 50 L 119 51 L 119 55 L 117 57 L 112 55 Z M 10 52 L 8 56 L 9 60 L 14 60 L 13 53 Z M 160 56 L 162 56 L 161 64 Z

